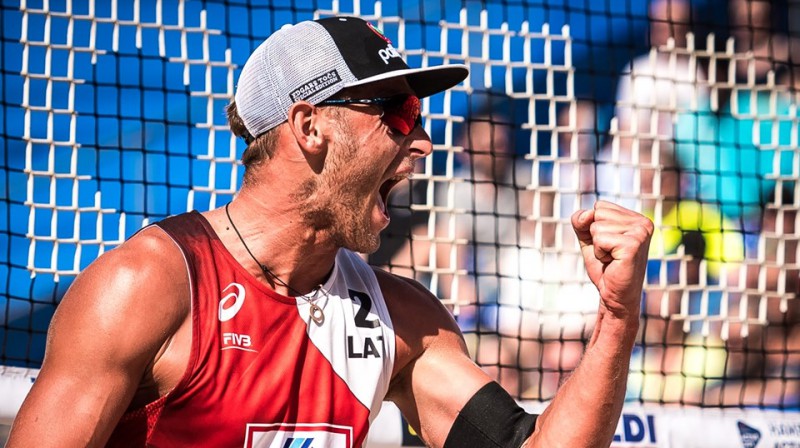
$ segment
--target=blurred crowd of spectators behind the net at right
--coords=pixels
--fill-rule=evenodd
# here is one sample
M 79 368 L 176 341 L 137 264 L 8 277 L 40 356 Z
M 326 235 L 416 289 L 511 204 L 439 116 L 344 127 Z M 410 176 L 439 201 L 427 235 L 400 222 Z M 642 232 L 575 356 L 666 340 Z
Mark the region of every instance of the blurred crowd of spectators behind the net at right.
M 727 23 L 709 31 L 720 4 Z M 651 0 L 647 48 L 613 68 L 612 112 L 592 94 L 559 103 L 551 145 L 520 119 L 527 101 L 490 95 L 455 124 L 445 168 L 392 198 L 370 261 L 452 306 L 512 395 L 547 400 L 598 303 L 569 217 L 620 203 L 657 229 L 629 399 L 800 408 L 796 8 Z

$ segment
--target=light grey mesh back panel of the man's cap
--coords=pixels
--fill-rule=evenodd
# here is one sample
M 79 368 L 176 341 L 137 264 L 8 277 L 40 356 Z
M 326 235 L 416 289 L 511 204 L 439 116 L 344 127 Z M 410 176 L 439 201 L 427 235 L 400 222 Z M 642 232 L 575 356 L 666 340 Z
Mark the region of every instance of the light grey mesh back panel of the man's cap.
M 334 77 L 326 76 L 334 70 Z M 302 86 L 330 83 L 302 98 L 317 104 L 356 81 L 325 28 L 301 22 L 275 32 L 253 52 L 239 76 L 236 107 L 247 130 L 257 137 L 288 118 L 291 94 Z

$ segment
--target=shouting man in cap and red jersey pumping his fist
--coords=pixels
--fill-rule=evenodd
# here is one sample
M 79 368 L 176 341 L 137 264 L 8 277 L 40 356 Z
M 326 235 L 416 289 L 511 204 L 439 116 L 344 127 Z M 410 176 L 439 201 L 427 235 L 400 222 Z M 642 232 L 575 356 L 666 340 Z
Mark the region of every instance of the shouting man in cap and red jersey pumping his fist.
M 9 446 L 361 446 L 383 400 L 434 447 L 608 445 L 650 221 L 608 203 L 573 216 L 602 304 L 538 420 L 471 362 L 434 296 L 351 252 L 378 247 L 389 190 L 432 150 L 418 97 L 466 75 L 409 69 L 357 18 L 273 34 L 228 110 L 249 145 L 239 195 L 78 277 Z

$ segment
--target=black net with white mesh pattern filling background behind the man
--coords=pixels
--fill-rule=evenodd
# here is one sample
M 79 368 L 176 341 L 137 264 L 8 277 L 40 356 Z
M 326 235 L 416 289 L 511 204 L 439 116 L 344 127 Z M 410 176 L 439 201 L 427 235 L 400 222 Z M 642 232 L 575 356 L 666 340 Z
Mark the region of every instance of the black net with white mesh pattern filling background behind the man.
M 0 14 L 6 420 L 83 268 L 235 195 L 244 143 L 224 108 L 250 52 L 346 14 L 412 67 L 470 67 L 423 100 L 433 154 L 397 187 L 369 260 L 436 293 L 489 375 L 540 409 L 575 368 L 598 296 L 570 215 L 611 200 L 656 226 L 615 444 L 800 444 L 800 3 L 21 0 Z M 395 413 L 379 427 L 398 432 L 381 431 L 414 443 Z

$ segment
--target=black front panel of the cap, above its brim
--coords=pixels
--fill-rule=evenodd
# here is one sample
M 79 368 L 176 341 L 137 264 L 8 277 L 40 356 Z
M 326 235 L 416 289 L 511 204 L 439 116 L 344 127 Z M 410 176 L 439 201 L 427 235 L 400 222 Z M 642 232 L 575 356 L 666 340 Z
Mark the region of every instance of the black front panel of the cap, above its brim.
M 330 17 L 317 20 L 333 38 L 344 61 L 359 80 L 408 65 L 383 33 L 357 17 Z

